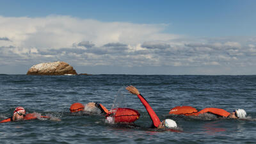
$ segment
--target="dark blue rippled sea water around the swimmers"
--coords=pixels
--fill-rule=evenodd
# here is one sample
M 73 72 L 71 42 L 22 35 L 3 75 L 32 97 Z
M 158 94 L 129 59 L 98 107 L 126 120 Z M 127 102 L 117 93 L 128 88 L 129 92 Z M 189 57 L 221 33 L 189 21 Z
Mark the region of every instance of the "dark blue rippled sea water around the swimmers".
M 160 120 L 171 118 L 179 132 L 152 129 L 136 86 Z M 52 119 L 0 124 L 0 143 L 256 143 L 256 76 L 26 76 L 0 75 L 0 120 L 17 106 Z M 97 113 L 72 115 L 70 105 L 99 102 L 111 109 L 136 109 L 134 125 L 108 124 Z M 248 120 L 168 115 L 175 106 L 246 110 Z M 60 119 L 60 120 L 56 120 Z

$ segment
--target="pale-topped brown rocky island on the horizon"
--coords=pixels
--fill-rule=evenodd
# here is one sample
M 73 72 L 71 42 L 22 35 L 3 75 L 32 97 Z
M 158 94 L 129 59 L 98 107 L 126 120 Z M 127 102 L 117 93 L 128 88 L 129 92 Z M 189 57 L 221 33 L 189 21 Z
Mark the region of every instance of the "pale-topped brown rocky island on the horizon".
M 77 75 L 76 70 L 64 61 L 39 63 L 29 68 L 27 75 Z

